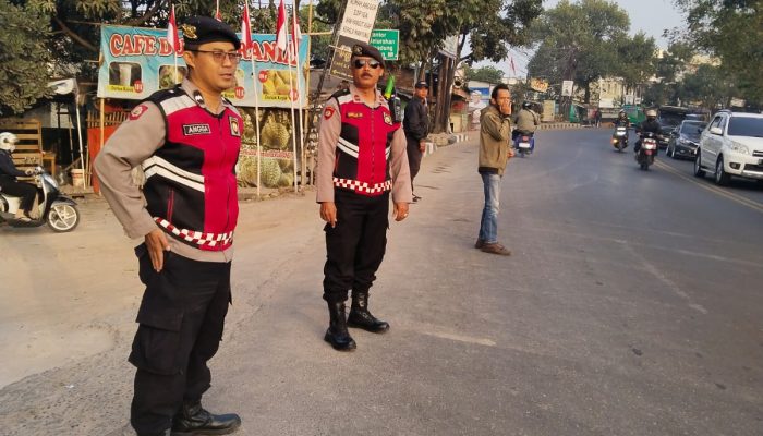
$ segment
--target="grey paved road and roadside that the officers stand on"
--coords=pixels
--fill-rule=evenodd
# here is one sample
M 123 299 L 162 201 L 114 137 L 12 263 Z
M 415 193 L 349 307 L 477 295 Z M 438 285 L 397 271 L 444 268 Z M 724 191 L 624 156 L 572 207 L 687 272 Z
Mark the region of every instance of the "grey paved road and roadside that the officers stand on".
M 642 172 L 608 135 L 544 131 L 535 155 L 509 164 L 499 237 L 511 257 L 472 247 L 483 201 L 474 143 L 427 157 L 424 199 L 391 225 L 372 290 L 372 311 L 392 328 L 355 332 L 349 354 L 322 341 L 312 194 L 243 205 L 234 305 L 206 404 L 239 411 L 242 435 L 763 433 L 763 190 L 718 190 L 664 157 Z M 88 207 L 101 217 L 102 204 Z M 60 310 L 96 313 L 66 337 L 96 325 L 112 342 L 0 390 L 2 434 L 128 434 L 124 356 L 140 292 L 119 254 L 129 244 L 104 216 L 82 246 L 116 246 L 92 255 L 107 272 L 88 277 L 86 304 Z M 33 238 L 0 229 L 22 251 Z

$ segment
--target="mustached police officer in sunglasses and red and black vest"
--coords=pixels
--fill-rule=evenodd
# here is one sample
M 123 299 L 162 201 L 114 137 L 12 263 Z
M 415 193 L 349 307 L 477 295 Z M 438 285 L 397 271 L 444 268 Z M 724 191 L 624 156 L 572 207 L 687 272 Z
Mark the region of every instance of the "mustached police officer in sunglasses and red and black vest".
M 324 300 L 329 327 L 324 339 L 336 350 L 355 349 L 348 326 L 385 332 L 389 324 L 368 312 L 368 290 L 384 258 L 389 196 L 397 221 L 408 217 L 411 178 L 405 136 L 376 85 L 382 53 L 352 46 L 352 84 L 326 102 L 318 138 L 317 202 L 326 221 Z M 350 314 L 344 302 L 352 290 Z

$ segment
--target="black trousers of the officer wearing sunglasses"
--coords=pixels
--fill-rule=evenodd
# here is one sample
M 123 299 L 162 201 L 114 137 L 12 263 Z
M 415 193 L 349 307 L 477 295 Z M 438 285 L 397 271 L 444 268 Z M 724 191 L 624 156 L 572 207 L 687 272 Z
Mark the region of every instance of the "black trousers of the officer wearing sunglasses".
M 335 190 L 337 226 L 326 225 L 324 300 L 347 301 L 347 292 L 368 292 L 387 247 L 389 192 L 376 197 Z

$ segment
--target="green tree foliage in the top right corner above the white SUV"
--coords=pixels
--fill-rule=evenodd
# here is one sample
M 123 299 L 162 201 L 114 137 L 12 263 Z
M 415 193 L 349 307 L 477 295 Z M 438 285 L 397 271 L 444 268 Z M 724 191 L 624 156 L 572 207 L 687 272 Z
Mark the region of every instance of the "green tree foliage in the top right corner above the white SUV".
M 688 14 L 681 40 L 722 61 L 740 96 L 763 105 L 763 1 L 675 0 Z

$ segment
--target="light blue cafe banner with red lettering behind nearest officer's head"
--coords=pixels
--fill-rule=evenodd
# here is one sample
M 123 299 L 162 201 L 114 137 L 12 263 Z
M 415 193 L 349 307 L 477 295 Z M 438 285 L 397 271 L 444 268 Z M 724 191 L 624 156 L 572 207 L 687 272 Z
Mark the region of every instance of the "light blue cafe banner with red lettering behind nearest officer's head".
M 243 58 L 235 70 L 237 86 L 223 93 L 238 107 L 254 107 L 254 93 L 259 95 L 259 106 L 270 108 L 289 108 L 289 98 L 298 107 L 307 105 L 305 95 L 300 96 L 296 80 L 305 89 L 305 74 L 292 71 L 283 55 L 276 49 L 276 35 L 252 35 L 254 45 L 251 51 L 243 52 Z M 291 38 L 290 38 L 291 40 Z M 186 66 L 181 50 L 178 55 L 178 71 L 174 71 L 174 58 L 167 41 L 167 29 L 101 26 L 100 68 L 98 71 L 98 97 L 142 100 L 158 89 L 166 89 L 182 81 Z M 290 43 L 291 44 L 291 43 Z M 300 65 L 307 65 L 307 38 L 303 38 L 299 50 Z M 252 81 L 252 62 L 257 70 L 256 89 Z M 294 87 L 289 87 L 289 75 Z M 303 93 L 306 94 L 306 93 Z

